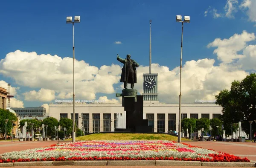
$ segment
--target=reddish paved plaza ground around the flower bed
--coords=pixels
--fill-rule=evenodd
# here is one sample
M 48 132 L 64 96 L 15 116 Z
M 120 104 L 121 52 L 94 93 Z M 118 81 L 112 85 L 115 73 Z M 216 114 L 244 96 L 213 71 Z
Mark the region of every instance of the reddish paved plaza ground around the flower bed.
M 57 141 L 34 141 L 34 142 L 5 142 L 0 141 L 0 154 L 10 151 L 20 151 L 32 148 L 40 148 L 57 144 Z M 68 143 L 68 142 L 59 142 Z M 199 146 L 202 148 L 213 149 L 215 151 L 221 151 L 228 154 L 233 154 L 240 157 L 247 157 L 251 161 L 256 161 L 256 143 L 253 142 L 209 142 L 209 141 L 198 141 L 198 142 L 183 142 L 190 145 Z M 74 166 L 54 166 L 56 168 L 74 168 Z M 76 168 L 195 168 L 195 166 L 75 166 Z M 26 167 L 15 167 L 15 168 L 31 168 Z M 49 168 L 49 166 L 33 166 L 33 168 Z M 204 167 L 208 168 L 208 167 Z M 212 167 L 209 167 L 212 168 Z M 222 168 L 222 167 L 218 167 Z M 227 167 L 225 167 L 227 168 Z M 239 167 L 237 167 L 239 168 Z

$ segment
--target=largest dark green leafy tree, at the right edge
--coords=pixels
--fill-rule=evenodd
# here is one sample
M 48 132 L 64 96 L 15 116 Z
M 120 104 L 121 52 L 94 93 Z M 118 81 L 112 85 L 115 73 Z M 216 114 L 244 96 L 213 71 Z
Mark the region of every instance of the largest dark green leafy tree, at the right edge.
M 250 134 L 248 121 L 256 119 L 256 74 L 247 75 L 242 81 L 233 81 L 230 91 L 222 90 L 215 96 L 216 104 L 223 107 L 221 120 L 231 133 L 230 124 L 242 122 L 243 130 Z M 255 127 L 253 132 L 256 131 Z

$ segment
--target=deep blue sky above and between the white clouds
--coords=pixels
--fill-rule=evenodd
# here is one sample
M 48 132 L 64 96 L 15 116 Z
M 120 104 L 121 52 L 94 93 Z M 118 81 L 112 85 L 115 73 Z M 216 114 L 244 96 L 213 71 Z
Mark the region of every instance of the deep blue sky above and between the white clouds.
M 58 55 L 61 58 L 73 57 L 72 25 L 65 21 L 67 16 L 79 15 L 81 23 L 75 24 L 75 57 L 78 61 L 83 60 L 98 68 L 112 64 L 122 66 L 116 60 L 116 54 L 122 58 L 131 54 L 131 58 L 145 67 L 148 66 L 151 19 L 152 63 L 168 67 L 172 71 L 180 63 L 181 23 L 175 22 L 175 15 L 189 15 L 191 23 L 184 23 L 183 64 L 186 61 L 208 58 L 215 60 L 213 66 L 218 66 L 222 61 L 214 53 L 216 47 L 207 47 L 209 43 L 216 38 L 223 40 L 235 34 L 241 35 L 244 30 L 247 33 L 256 31 L 255 20 L 249 13 L 253 10 L 250 8 L 252 4 L 244 9 L 239 7 L 247 1 L 250 0 L 3 1 L 0 10 L 0 59 L 16 50 L 36 52 L 37 55 Z M 230 15 L 227 15 L 227 8 L 225 10 L 227 4 L 233 5 L 228 6 L 231 9 Z M 214 13 L 214 9 L 217 12 Z M 216 14 L 222 16 L 216 17 Z M 115 44 L 115 41 L 121 41 L 121 44 Z M 255 41 L 246 41 L 246 45 L 249 44 L 255 45 Z M 243 49 L 237 51 L 239 54 L 242 52 Z M 37 71 L 33 68 L 29 70 Z M 12 87 L 19 87 L 16 89 L 17 99 L 23 101 L 24 107 L 37 107 L 51 102 L 26 101 L 23 93 L 31 90 L 38 92 L 43 87 L 22 84 L 12 75 L 14 73 L 15 70 L 8 73 L 0 71 L 0 81 L 10 80 Z M 242 75 L 241 78 L 243 77 Z M 114 93 L 121 90 L 120 84 L 111 84 L 114 92 L 96 92 L 95 99 L 104 95 L 115 98 Z M 44 89 L 54 90 L 50 87 Z M 212 95 L 216 91 L 218 89 Z M 194 97 L 190 99 L 192 102 Z

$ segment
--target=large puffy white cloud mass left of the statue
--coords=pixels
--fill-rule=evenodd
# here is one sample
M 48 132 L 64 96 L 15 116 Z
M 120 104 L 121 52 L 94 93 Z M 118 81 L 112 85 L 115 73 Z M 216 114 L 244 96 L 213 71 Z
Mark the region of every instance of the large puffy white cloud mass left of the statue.
M 37 55 L 36 52 L 10 52 L 0 61 L 0 73 L 15 79 L 21 86 L 42 88 L 24 93 L 26 100 L 50 101 L 54 98 L 72 98 L 73 58 L 57 55 Z M 22 62 L 23 64 L 20 64 Z M 76 98 L 92 100 L 96 93 L 114 93 L 113 84 L 119 82 L 121 67 L 112 64 L 100 68 L 75 61 Z M 103 84 L 104 83 L 104 84 Z M 47 93 L 47 96 L 38 94 Z M 54 91 L 54 92 L 53 92 Z

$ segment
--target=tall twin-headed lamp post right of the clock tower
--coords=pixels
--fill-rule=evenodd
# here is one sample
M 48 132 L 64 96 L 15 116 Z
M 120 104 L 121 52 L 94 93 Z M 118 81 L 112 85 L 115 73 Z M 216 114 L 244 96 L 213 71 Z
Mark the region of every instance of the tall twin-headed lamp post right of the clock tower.
M 179 128 L 178 128 L 178 142 L 181 142 L 181 115 L 180 115 L 180 106 L 181 106 L 181 67 L 182 67 L 182 42 L 183 42 L 183 23 L 190 23 L 190 17 L 184 16 L 182 21 L 181 15 L 176 15 L 176 22 L 182 23 L 181 28 L 181 46 L 180 46 L 180 96 L 179 96 Z

